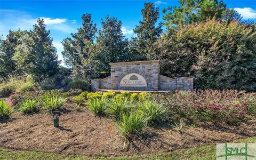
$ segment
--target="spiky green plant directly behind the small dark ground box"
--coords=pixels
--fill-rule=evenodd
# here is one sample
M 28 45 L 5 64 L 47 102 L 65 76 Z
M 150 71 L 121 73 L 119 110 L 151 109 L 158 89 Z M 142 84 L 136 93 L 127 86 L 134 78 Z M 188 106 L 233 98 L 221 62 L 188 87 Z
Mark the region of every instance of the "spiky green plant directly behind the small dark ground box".
M 44 96 L 43 109 L 52 113 L 54 110 L 61 110 L 63 105 L 66 103 L 68 98 L 63 98 L 58 95 L 55 97 L 49 97 L 49 95 Z

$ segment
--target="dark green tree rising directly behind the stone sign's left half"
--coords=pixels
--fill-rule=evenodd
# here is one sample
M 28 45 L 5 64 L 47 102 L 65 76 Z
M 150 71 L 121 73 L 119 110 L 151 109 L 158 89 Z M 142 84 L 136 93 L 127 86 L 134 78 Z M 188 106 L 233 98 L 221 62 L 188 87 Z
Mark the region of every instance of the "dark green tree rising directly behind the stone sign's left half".
M 110 73 L 110 62 L 123 62 L 129 57 L 128 40 L 122 33 L 122 22 L 117 18 L 101 19 L 102 29 L 99 30 L 96 44 L 91 52 L 94 68 L 99 73 Z

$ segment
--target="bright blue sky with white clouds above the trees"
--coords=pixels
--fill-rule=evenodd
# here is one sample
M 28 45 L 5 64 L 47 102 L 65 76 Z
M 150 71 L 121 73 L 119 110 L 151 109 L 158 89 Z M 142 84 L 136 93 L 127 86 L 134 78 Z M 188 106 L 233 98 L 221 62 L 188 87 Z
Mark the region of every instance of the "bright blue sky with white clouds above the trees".
M 2 1 L 0 0 L 0 35 L 7 35 L 9 29 L 31 29 L 37 18 L 44 18 L 51 30 L 53 45 L 61 60 L 63 38 L 75 33 L 81 27 L 81 15 L 91 13 L 92 19 L 101 28 L 101 18 L 107 14 L 123 22 L 123 33 L 133 36 L 132 29 L 142 19 L 141 9 L 145 2 L 153 2 L 161 11 L 167 6 L 179 5 L 177 0 L 169 1 Z M 244 19 L 256 20 L 256 0 L 224 0 L 228 8 L 235 8 Z

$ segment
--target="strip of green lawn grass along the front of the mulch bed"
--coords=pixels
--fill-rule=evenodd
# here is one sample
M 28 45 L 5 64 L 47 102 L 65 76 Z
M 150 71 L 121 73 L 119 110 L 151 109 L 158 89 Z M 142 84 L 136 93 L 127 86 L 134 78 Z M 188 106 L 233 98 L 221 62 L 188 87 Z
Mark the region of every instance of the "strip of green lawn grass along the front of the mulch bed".
M 256 143 L 256 137 L 240 139 L 234 142 Z M 215 150 L 215 145 L 207 145 L 190 149 L 180 149 L 168 153 L 144 154 L 129 157 L 90 157 L 0 148 L 0 159 L 215 159 Z

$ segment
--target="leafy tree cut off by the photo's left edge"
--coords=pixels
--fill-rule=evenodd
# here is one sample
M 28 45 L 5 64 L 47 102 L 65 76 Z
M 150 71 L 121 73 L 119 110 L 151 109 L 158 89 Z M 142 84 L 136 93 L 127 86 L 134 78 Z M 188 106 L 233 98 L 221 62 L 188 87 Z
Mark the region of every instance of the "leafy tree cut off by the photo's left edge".
M 15 53 L 15 47 L 21 44 L 21 38 L 26 31 L 13 31 L 9 30 L 9 34 L 6 39 L 1 40 L 0 44 L 0 77 L 6 79 L 12 74 L 20 74 L 20 71 L 16 71 L 15 61 L 12 57 Z

